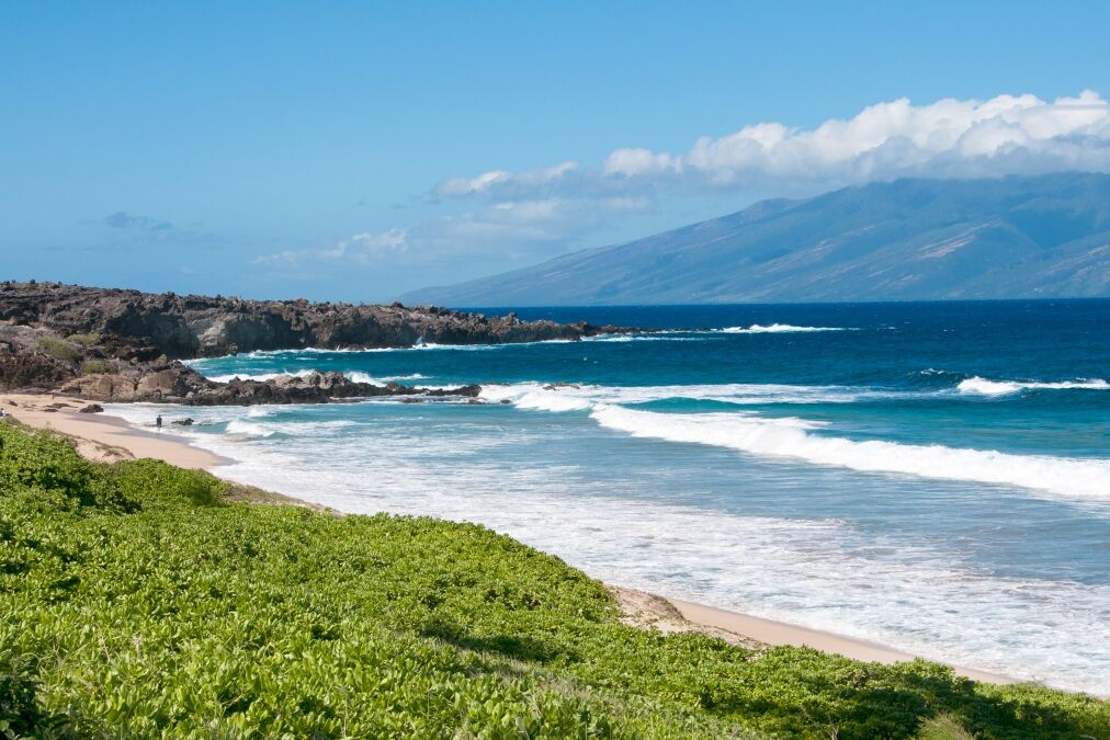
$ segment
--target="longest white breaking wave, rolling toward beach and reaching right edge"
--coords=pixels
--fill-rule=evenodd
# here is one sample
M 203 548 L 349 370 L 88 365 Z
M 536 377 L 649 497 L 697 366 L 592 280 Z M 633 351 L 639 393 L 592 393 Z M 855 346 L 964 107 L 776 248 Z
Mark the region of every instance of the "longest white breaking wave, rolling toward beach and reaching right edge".
M 993 450 L 856 442 L 809 434 L 797 419 L 743 414 L 659 414 L 595 405 L 602 426 L 635 437 L 727 447 L 760 456 L 803 459 L 866 473 L 892 473 L 1046 490 L 1062 496 L 1110 500 L 1110 462 Z

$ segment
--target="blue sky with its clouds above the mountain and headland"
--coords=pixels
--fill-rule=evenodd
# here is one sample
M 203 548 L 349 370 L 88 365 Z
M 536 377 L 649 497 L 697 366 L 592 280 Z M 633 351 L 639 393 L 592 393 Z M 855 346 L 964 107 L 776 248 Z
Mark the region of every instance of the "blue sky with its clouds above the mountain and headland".
M 1110 3 L 0 6 L 0 278 L 387 301 L 900 176 L 1110 171 Z

